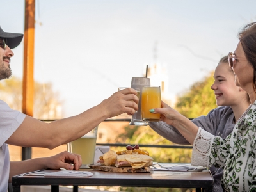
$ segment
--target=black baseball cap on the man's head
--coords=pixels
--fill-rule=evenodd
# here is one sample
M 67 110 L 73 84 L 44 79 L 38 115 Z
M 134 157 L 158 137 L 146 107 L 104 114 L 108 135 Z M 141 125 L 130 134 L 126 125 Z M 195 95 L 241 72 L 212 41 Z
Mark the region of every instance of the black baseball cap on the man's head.
M 0 37 L 6 38 L 6 44 L 8 45 L 8 47 L 10 47 L 10 49 L 13 49 L 20 44 L 23 38 L 23 34 L 4 32 L 0 26 Z

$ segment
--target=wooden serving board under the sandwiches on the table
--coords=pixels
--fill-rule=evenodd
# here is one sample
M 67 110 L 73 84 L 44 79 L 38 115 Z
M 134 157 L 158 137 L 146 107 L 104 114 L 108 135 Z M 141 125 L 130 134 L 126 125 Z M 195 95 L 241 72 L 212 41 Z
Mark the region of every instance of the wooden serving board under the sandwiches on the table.
M 90 164 L 90 168 L 93 170 L 101 170 L 104 172 L 113 172 L 113 173 L 145 173 L 145 172 L 153 172 L 152 168 L 150 167 L 143 167 L 134 169 L 131 166 L 123 166 L 123 167 L 115 167 L 115 166 L 104 166 L 104 165 L 94 165 Z

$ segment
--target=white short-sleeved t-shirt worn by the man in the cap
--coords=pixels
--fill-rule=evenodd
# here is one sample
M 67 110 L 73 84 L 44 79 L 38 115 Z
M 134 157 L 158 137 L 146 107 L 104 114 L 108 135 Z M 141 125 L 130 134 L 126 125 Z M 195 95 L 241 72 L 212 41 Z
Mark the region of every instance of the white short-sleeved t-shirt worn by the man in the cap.
M 0 100 L 0 191 L 7 191 L 10 172 L 10 156 L 5 143 L 23 122 L 25 114 L 11 109 Z

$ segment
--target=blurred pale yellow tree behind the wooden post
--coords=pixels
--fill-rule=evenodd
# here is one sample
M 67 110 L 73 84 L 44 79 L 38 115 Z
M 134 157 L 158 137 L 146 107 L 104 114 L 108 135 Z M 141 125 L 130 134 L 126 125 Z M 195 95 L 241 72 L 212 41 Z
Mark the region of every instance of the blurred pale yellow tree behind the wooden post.
M 38 119 L 58 119 L 62 118 L 61 105 L 58 92 L 52 90 L 51 83 L 38 83 L 35 81 L 35 97 L 33 117 Z M 0 81 L 0 99 L 4 100 L 10 108 L 22 111 L 22 81 L 17 77 L 12 77 Z

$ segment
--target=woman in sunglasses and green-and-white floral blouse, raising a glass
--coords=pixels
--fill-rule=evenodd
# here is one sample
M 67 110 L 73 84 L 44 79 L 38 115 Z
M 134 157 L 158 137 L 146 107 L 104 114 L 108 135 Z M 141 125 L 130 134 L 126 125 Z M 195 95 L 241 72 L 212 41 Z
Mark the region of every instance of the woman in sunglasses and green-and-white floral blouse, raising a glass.
M 234 53 L 228 54 L 235 83 L 250 97 L 250 106 L 227 138 L 214 136 L 162 102 L 161 121 L 175 127 L 193 145 L 191 164 L 223 168 L 225 191 L 256 191 L 256 22 L 244 26 Z

